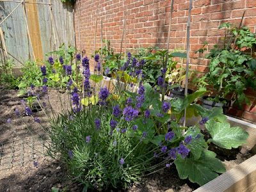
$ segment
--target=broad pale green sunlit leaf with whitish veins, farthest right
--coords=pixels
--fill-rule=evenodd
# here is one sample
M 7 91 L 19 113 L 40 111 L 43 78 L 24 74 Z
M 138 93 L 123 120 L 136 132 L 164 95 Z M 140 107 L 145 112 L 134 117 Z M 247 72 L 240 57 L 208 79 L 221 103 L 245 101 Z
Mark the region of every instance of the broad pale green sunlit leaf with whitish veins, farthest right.
M 228 122 L 208 120 L 205 127 L 212 136 L 212 143 L 222 148 L 237 148 L 246 143 L 249 136 L 248 132 L 244 131 L 240 127 L 230 127 Z

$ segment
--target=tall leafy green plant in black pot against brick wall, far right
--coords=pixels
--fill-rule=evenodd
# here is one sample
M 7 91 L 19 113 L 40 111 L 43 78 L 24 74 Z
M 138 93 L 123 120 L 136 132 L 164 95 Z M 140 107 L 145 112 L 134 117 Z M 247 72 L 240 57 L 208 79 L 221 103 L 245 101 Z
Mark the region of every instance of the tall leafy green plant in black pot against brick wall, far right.
M 195 78 L 200 88 L 207 85 L 214 88 L 215 94 L 210 97 L 203 97 L 202 103 L 207 109 L 222 106 L 227 112 L 231 101 L 241 108 L 241 102 L 250 105 L 250 100 L 246 97 L 244 90 L 251 87 L 255 90 L 256 85 L 256 60 L 253 58 L 253 49 L 256 44 L 255 35 L 247 27 L 236 28 L 231 24 L 221 24 L 220 29 L 225 29 L 223 47 L 214 45 L 210 53 L 205 58 L 211 59 L 209 62 L 209 72 L 200 78 Z M 233 43 L 232 43 L 233 42 Z M 203 49 L 196 52 L 204 52 Z M 244 52 L 244 50 L 250 52 Z M 206 82 L 205 82 L 206 81 Z M 205 83 L 203 83 L 205 82 Z

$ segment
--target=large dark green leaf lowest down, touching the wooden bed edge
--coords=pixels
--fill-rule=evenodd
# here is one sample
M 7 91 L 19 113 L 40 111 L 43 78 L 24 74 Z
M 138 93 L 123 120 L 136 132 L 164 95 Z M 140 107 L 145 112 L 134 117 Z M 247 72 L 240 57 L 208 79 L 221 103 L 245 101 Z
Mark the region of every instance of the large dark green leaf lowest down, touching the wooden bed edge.
M 200 186 L 215 179 L 218 177 L 218 173 L 226 171 L 225 166 L 215 156 L 214 152 L 204 150 L 200 159 L 178 157 L 174 163 L 180 179 L 188 178 L 191 182 L 196 182 Z

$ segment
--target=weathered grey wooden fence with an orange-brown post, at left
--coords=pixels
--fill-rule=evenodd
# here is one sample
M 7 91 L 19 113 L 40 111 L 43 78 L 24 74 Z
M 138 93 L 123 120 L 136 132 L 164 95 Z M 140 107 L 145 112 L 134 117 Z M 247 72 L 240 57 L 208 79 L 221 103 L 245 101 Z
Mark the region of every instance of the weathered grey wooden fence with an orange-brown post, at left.
M 0 0 L 0 65 L 6 51 L 21 62 L 47 60 L 45 53 L 61 44 L 74 45 L 73 10 L 60 0 Z M 17 60 L 16 67 L 21 67 Z

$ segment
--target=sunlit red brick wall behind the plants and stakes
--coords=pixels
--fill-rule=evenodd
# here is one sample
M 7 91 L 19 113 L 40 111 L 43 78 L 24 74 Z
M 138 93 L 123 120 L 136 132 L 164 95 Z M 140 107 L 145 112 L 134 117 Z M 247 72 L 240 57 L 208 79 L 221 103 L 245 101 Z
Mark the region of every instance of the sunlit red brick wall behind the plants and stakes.
M 77 0 L 75 8 L 76 43 L 90 56 L 94 50 L 95 20 L 98 5 L 96 49 L 100 47 L 100 22 L 103 36 L 111 41 L 115 51 L 120 51 L 124 10 L 127 12 L 127 48 L 156 45 L 166 49 L 171 0 Z M 170 49 L 184 48 L 188 20 L 189 0 L 176 0 L 172 19 Z M 224 34 L 218 27 L 223 22 L 239 24 L 244 10 L 243 25 L 256 33 L 255 0 L 193 0 L 191 12 L 191 38 L 189 63 L 191 69 L 207 71 L 204 54 L 195 54 L 205 41 L 211 48 L 221 42 Z M 79 24 L 78 24 L 78 18 Z M 80 29 L 80 30 L 79 30 Z M 79 40 L 79 31 L 81 41 Z M 80 45 L 81 42 L 81 45 Z M 123 44 L 124 45 L 124 44 Z M 123 47 L 124 48 L 124 47 Z M 124 50 L 124 49 L 123 49 Z M 252 106 L 243 104 L 242 110 L 230 108 L 229 113 L 256 122 L 256 94 L 247 92 Z

